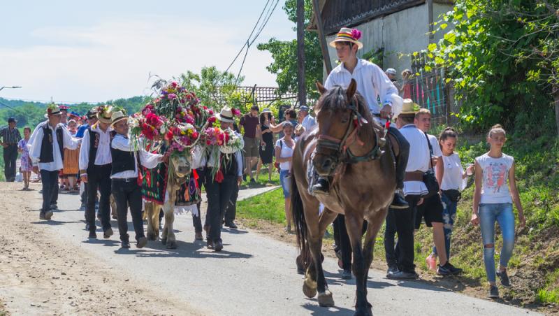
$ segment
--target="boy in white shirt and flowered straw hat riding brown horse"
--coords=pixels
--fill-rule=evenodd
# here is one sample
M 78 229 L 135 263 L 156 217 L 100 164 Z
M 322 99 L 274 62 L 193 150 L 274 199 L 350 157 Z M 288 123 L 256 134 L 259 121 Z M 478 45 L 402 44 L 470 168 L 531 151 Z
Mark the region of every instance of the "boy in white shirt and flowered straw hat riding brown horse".
M 393 85 L 386 73 L 379 66 L 365 59 L 356 57 L 357 50 L 363 48 L 359 40 L 361 31 L 342 27 L 336 38 L 330 45 L 336 49 L 337 57 L 342 62 L 332 70 L 324 87 L 331 89 L 335 85 L 344 88 L 349 86 L 351 79 L 357 82 L 357 91 L 369 106 L 372 116 L 384 125 L 390 120 L 392 114 L 397 115 L 402 108 L 402 98 L 398 95 L 398 89 Z M 380 106 L 380 103 L 383 106 Z M 409 154 L 409 143 L 395 127 L 390 127 L 388 133 L 398 142 L 399 155 L 395 157 L 396 167 L 396 191 L 391 208 L 405 209 L 408 207 L 404 199 L 403 187 L 404 177 Z M 319 177 L 313 185 L 312 191 L 319 194 L 328 194 L 329 181 L 327 178 Z

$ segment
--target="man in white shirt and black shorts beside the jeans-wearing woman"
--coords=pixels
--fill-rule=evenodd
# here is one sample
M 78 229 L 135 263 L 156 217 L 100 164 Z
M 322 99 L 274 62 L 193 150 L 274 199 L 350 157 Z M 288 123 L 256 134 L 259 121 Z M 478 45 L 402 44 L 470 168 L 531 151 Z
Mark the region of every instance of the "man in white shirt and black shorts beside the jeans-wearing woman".
M 430 110 L 426 108 L 421 108 L 415 115 L 414 119 L 415 126 L 425 133 L 429 138 L 430 149 L 433 150 L 431 153 L 431 160 L 433 161 L 433 168 L 436 168 L 437 180 L 439 183 L 442 181 L 442 175 L 444 172 L 444 164 L 442 164 L 442 151 L 439 145 L 437 137 L 427 134 L 431 128 L 431 113 Z M 439 162 L 440 161 L 440 162 Z M 440 166 L 439 166 L 440 163 Z M 430 165 L 431 166 L 431 165 Z M 435 194 L 425 199 L 421 205 L 417 206 L 416 216 L 415 216 L 415 229 L 421 227 L 421 219 L 425 219 L 425 224 L 427 227 L 433 227 L 433 242 L 437 248 L 437 254 L 439 254 L 439 265 L 437 266 L 437 273 L 440 275 L 451 275 L 458 274 L 462 272 L 460 268 L 456 268 L 449 262 L 447 258 L 447 251 L 444 247 L 444 227 L 442 218 L 442 201 L 439 194 Z

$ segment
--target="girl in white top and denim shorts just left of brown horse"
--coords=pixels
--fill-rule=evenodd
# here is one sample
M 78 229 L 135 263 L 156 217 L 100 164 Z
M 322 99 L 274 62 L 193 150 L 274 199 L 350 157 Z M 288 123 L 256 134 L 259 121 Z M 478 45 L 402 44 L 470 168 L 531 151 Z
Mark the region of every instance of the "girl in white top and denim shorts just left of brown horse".
M 294 127 L 291 122 L 284 122 L 284 137 L 279 138 L 275 143 L 275 161 L 279 163 L 279 182 L 282 184 L 284 191 L 285 220 L 287 222 L 285 230 L 287 232 L 291 232 L 291 195 L 289 194 L 291 181 L 289 181 L 289 172 L 291 171 L 291 157 L 295 148 L 295 141 L 292 138 L 293 130 Z

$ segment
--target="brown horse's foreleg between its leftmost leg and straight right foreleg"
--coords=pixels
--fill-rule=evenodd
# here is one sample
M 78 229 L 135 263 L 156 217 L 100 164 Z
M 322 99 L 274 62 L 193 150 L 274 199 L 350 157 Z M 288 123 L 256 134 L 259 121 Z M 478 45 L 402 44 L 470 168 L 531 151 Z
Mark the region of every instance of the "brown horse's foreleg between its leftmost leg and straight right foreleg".
M 322 238 L 324 237 L 326 228 L 333 222 L 333 220 L 335 220 L 336 216 L 337 213 L 333 213 L 331 210 L 325 208 L 324 212 L 319 217 L 318 238 L 314 238 L 312 234 L 310 236 L 311 255 L 317 268 L 317 289 L 319 292 L 318 301 L 319 306 L 324 307 L 334 306 L 334 299 L 332 297 L 332 292 L 328 289 L 328 284 L 326 283 L 326 278 L 324 278 L 324 270 L 322 268 Z M 314 243 L 316 243 L 316 245 Z

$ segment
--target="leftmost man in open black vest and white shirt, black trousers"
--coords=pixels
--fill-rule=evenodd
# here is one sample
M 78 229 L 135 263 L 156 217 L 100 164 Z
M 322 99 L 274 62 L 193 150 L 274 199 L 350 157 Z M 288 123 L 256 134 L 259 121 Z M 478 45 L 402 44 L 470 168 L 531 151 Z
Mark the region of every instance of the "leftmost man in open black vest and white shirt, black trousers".
M 57 105 L 48 105 L 45 116 L 48 120 L 37 125 L 28 146 L 33 172 L 41 172 L 43 184 L 43 206 L 39 218 L 50 220 L 58 198 L 58 175 L 64 168 L 64 148 L 75 150 L 81 140 L 73 138 L 68 129 L 60 124 L 61 112 Z

